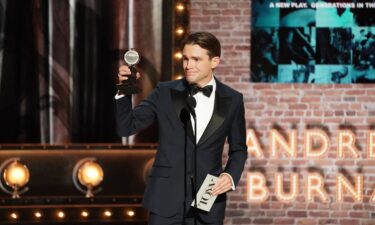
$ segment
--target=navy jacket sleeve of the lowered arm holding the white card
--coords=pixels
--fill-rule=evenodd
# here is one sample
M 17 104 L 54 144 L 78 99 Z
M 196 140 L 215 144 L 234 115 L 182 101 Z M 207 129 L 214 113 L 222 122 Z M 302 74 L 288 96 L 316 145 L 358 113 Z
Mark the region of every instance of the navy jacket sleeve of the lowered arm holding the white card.
M 224 172 L 232 176 L 234 185 L 237 186 L 247 159 L 246 121 L 242 94 L 235 107 L 235 115 L 228 135 L 229 157 Z

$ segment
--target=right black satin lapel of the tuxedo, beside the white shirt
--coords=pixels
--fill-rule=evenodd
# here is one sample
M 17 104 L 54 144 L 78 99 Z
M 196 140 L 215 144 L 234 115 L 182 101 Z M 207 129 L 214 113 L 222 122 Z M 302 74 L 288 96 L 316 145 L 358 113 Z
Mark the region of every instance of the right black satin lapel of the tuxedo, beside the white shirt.
M 199 139 L 198 145 L 205 142 L 221 126 L 228 115 L 232 98 L 220 96 L 219 93 L 220 91 L 216 90 L 214 111 L 202 137 Z

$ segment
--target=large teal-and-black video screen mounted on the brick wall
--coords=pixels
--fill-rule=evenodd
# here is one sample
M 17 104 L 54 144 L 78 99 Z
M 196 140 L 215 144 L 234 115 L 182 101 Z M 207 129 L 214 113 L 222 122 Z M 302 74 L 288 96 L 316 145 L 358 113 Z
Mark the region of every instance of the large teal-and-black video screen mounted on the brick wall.
M 375 0 L 252 1 L 251 81 L 375 83 Z

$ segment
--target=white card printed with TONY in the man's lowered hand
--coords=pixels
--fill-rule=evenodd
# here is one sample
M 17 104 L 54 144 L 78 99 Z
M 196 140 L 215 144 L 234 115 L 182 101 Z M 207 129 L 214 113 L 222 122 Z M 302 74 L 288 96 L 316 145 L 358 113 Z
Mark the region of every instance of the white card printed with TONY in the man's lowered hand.
M 219 177 L 207 174 L 206 179 L 204 179 L 202 186 L 199 188 L 197 194 L 197 208 L 209 212 L 212 205 L 215 202 L 217 196 L 211 195 L 212 187 L 219 180 Z M 195 200 L 191 203 L 191 206 L 195 207 Z

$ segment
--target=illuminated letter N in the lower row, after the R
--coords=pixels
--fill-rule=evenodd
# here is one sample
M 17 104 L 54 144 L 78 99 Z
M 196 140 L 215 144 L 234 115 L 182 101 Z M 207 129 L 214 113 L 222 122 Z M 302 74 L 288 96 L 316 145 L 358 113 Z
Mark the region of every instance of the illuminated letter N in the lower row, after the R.
M 346 177 L 342 174 L 338 174 L 336 176 L 336 190 L 337 190 L 337 201 L 343 202 L 344 201 L 344 190 L 347 190 L 349 194 L 354 198 L 357 202 L 362 202 L 363 200 L 363 176 L 356 175 L 354 177 L 355 184 L 354 187 L 352 184 L 346 179 Z

